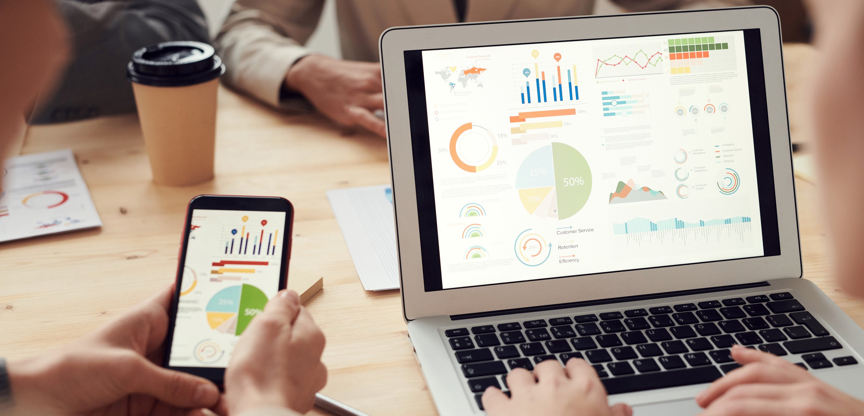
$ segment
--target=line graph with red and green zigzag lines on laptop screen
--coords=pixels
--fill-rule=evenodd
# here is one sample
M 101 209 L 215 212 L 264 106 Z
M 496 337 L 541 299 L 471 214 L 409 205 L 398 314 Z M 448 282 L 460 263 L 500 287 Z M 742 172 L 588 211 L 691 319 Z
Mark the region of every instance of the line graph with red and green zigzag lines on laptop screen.
M 594 47 L 594 78 L 618 78 L 664 72 L 665 54 L 659 43 Z

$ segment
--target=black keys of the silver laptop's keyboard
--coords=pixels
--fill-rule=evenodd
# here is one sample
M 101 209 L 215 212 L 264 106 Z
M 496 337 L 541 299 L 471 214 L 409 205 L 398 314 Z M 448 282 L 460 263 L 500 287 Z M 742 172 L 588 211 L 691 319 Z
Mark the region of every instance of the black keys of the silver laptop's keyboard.
M 444 336 L 480 410 L 486 388 L 509 394 L 507 373 L 545 360 L 584 358 L 608 394 L 715 381 L 740 367 L 733 344 L 801 354 L 804 369 L 858 363 L 820 352 L 842 345 L 788 292 L 452 328 Z

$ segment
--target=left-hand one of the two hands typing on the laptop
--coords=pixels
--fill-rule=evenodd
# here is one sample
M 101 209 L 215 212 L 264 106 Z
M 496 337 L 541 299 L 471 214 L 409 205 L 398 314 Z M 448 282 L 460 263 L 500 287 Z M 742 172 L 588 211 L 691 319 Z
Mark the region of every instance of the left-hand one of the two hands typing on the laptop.
M 606 389 L 594 368 L 573 358 L 562 369 L 557 360 L 540 362 L 533 374 L 514 369 L 507 375 L 511 397 L 498 388 L 486 388 L 483 407 L 490 416 L 632 416 L 626 404 L 607 404 Z

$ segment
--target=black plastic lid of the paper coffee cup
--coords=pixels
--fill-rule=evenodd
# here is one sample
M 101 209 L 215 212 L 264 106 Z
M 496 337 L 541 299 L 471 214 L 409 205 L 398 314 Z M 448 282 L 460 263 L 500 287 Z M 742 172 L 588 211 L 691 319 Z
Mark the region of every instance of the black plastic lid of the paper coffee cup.
M 195 41 L 170 41 L 142 47 L 132 54 L 126 77 L 143 85 L 194 85 L 218 78 L 225 65 L 213 47 Z

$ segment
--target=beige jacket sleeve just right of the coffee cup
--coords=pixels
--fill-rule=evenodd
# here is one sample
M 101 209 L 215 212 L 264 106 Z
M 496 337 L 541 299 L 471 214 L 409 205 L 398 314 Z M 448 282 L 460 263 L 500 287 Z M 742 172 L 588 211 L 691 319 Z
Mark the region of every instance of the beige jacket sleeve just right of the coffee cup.
M 309 54 L 302 44 L 314 32 L 323 6 L 324 0 L 238 0 L 216 38 L 226 63 L 223 80 L 267 104 L 286 107 L 279 97 L 283 79 Z

